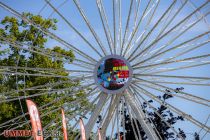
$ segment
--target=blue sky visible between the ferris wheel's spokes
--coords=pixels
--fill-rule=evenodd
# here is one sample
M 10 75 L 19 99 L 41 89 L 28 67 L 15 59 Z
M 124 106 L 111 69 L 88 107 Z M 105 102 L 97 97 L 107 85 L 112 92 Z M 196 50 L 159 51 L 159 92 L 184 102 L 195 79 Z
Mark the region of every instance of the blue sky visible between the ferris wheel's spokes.
M 14 0 L 1 0 L 1 1 L 5 4 L 11 6 L 12 8 L 16 9 L 18 12 L 31 12 L 34 14 L 38 14 L 40 9 L 45 4 L 45 2 L 42 0 L 30 0 L 30 1 L 29 0 L 15 0 L 15 1 Z M 145 1 L 145 0 L 143 0 L 143 1 Z M 194 4 L 196 6 L 199 6 L 205 2 L 205 0 L 196 0 L 196 1 L 192 0 L 192 1 L 194 2 Z M 63 2 L 63 0 L 60 0 L 60 1 L 51 0 L 51 2 L 56 7 L 59 4 L 61 4 Z M 104 31 L 102 28 L 102 24 L 100 21 L 99 13 L 97 11 L 95 0 L 80 0 L 80 3 L 81 3 L 81 7 L 86 12 L 87 17 L 90 19 L 91 25 L 94 27 L 94 30 L 97 32 L 97 34 L 101 38 L 102 43 L 105 46 L 107 46 L 108 44 L 107 44 L 105 34 L 104 34 Z M 113 18 L 112 18 L 111 3 L 112 3 L 111 0 L 104 0 L 104 6 L 105 6 L 105 10 L 108 15 L 109 25 L 110 25 L 110 28 L 112 29 L 112 24 L 113 24 L 112 19 Z M 165 9 L 168 7 L 168 5 L 170 3 L 171 3 L 171 0 L 161 1 L 160 6 L 157 10 L 158 14 L 156 14 L 156 17 L 152 21 L 153 25 L 155 24 L 155 21 L 157 21 L 157 19 L 165 11 Z M 144 7 L 145 4 L 146 3 L 143 2 L 142 7 Z M 125 27 L 125 20 L 127 17 L 128 7 L 129 7 L 129 1 L 123 0 L 123 4 L 122 4 L 123 27 Z M 203 13 L 208 12 L 209 9 L 210 9 L 210 5 L 206 6 L 206 8 L 204 8 L 201 12 L 203 12 Z M 87 26 L 85 25 L 85 22 L 82 20 L 79 12 L 77 11 L 75 5 L 72 2 L 72 0 L 67 1 L 65 3 L 65 5 L 63 5 L 62 7 L 59 8 L 59 10 L 63 14 L 63 16 L 67 18 L 67 20 L 69 20 L 76 28 L 78 28 L 79 31 L 83 35 L 85 35 L 85 37 L 87 37 L 87 39 L 92 44 L 95 44 L 95 46 L 98 48 L 96 41 L 94 40 L 94 38 L 91 35 L 90 31 L 88 30 Z M 180 19 L 184 18 L 185 15 L 189 14 L 192 10 L 193 10 L 193 8 L 188 6 L 188 8 L 185 8 L 185 10 L 182 11 L 182 13 L 178 15 L 178 17 L 175 19 L 175 21 L 180 21 Z M 41 15 L 44 17 L 48 17 L 51 12 L 52 12 L 52 9 L 49 6 L 47 6 L 41 12 Z M 2 19 L 6 15 L 10 16 L 11 14 L 9 12 L 3 10 L 2 8 L 0 8 L 0 19 Z M 58 35 L 59 37 L 61 37 L 64 40 L 66 40 L 67 42 L 70 42 L 73 45 L 77 46 L 77 48 L 82 50 L 83 52 L 88 52 L 88 54 L 90 56 L 93 56 L 96 59 L 99 59 L 99 57 L 97 57 L 96 54 L 92 50 L 87 49 L 87 45 L 78 37 L 78 35 L 76 35 L 68 27 L 68 25 L 57 14 L 53 14 L 52 17 L 58 19 L 58 21 L 59 21 L 58 22 L 58 30 L 54 32 L 56 35 Z M 207 17 L 207 21 L 210 22 L 209 16 Z M 175 23 L 176 22 L 174 22 L 174 24 Z M 146 24 L 146 23 L 143 23 L 143 24 Z M 143 27 L 144 26 L 142 26 L 141 28 L 143 28 Z M 204 24 L 204 22 L 202 22 L 202 23 L 198 24 L 197 26 L 195 26 L 193 28 L 193 30 L 188 32 L 186 35 L 182 36 L 177 41 L 175 41 L 173 45 L 176 45 L 186 39 L 189 39 L 190 36 L 192 36 L 192 37 L 196 36 L 197 34 L 201 33 L 202 31 L 205 31 L 206 29 L 207 29 L 206 24 Z M 176 32 L 175 32 L 175 34 L 176 34 Z M 155 34 L 154 34 L 154 36 L 155 36 Z M 166 38 L 162 43 L 165 43 L 166 41 L 168 41 L 168 38 Z M 152 39 L 153 38 L 151 37 L 151 40 Z M 49 42 L 46 44 L 46 47 L 53 47 L 56 45 L 62 46 L 61 44 L 59 44 L 58 42 L 56 42 L 54 40 L 49 40 Z M 196 56 L 196 55 L 200 55 L 200 54 L 208 54 L 209 52 L 210 52 L 210 46 L 209 46 L 209 44 L 207 44 L 207 45 L 201 47 L 200 49 L 193 51 L 188 55 L 183 56 L 183 58 L 189 57 L 189 56 Z M 166 57 L 169 57 L 170 55 L 171 54 L 168 54 L 168 55 L 165 55 L 164 57 L 166 58 Z M 78 56 L 78 58 L 79 58 L 79 56 Z M 182 57 L 180 57 L 180 58 L 182 58 Z M 209 59 L 206 59 L 206 60 L 209 60 Z M 172 66 L 174 66 L 174 65 L 172 65 Z M 66 68 L 70 69 L 70 67 L 68 65 L 66 65 Z M 177 71 L 176 73 L 172 72 L 171 74 L 210 77 L 209 69 L 210 69 L 210 67 L 208 65 L 208 66 L 204 66 L 204 67 L 198 67 L 198 68 L 195 68 L 195 69 L 189 70 L 189 71 L 182 70 L 182 71 Z M 176 88 L 176 87 L 180 87 L 182 85 L 169 85 L 169 86 Z M 197 96 L 201 96 L 206 99 L 210 99 L 210 88 L 209 87 L 199 87 L 199 88 L 196 86 L 184 86 L 184 87 L 185 87 L 186 92 L 192 93 Z M 170 103 L 172 105 L 176 106 L 177 108 L 179 108 L 180 110 L 183 110 L 184 112 L 191 114 L 193 117 L 195 117 L 197 120 L 199 120 L 201 122 L 204 122 L 205 119 L 207 118 L 208 114 L 210 114 L 209 108 L 203 107 L 203 106 L 200 106 L 200 105 L 197 105 L 195 103 L 188 102 L 185 100 L 172 99 L 172 100 L 170 100 Z M 208 126 L 209 125 L 210 125 L 210 121 L 208 122 Z M 183 128 L 186 133 L 188 133 L 188 132 L 192 133 L 195 131 L 199 131 L 199 129 L 197 127 L 190 124 L 188 121 L 178 123 L 177 127 L 178 126 Z M 189 136 L 188 139 L 190 140 L 191 139 L 190 135 L 188 135 L 188 136 Z M 208 140 L 208 139 L 210 139 L 210 135 L 205 137 L 205 140 Z

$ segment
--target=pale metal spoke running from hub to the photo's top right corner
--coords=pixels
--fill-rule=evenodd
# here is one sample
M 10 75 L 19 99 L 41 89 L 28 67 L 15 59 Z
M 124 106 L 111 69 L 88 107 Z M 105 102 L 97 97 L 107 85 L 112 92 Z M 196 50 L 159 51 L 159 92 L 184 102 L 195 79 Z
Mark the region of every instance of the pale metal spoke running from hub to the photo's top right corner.
M 150 49 L 154 44 L 156 44 L 157 41 L 161 40 L 162 38 L 164 38 L 166 35 L 168 35 L 169 33 L 171 33 L 171 31 L 173 31 L 175 28 L 177 28 L 178 26 L 180 26 L 183 22 L 185 22 L 188 18 L 190 18 L 191 16 L 193 16 L 197 11 L 199 11 L 200 9 L 202 9 L 204 6 L 206 6 L 208 4 L 208 1 L 206 1 L 204 4 L 202 4 L 199 8 L 197 8 L 196 10 L 194 10 L 192 13 L 190 13 L 187 17 L 185 17 L 183 20 L 181 20 L 179 23 L 177 23 L 174 27 L 172 27 L 171 29 L 169 29 L 166 33 L 164 33 L 162 36 L 160 36 L 158 39 L 155 39 L 154 41 L 152 41 L 152 43 L 150 45 L 148 45 L 148 47 L 146 47 L 143 51 L 141 51 L 139 54 L 137 55 L 132 55 L 133 58 L 131 59 L 131 56 L 129 57 L 130 61 L 133 61 L 134 59 L 136 59 L 138 56 L 140 56 L 141 54 L 143 54 L 145 51 L 147 51 L 148 49 Z

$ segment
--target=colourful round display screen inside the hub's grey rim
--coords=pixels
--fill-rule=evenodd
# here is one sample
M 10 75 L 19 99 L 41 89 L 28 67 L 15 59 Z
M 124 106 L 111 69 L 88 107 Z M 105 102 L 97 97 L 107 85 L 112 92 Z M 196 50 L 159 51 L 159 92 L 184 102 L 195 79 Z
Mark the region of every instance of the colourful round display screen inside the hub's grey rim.
M 129 67 L 124 60 L 108 58 L 97 69 L 97 81 L 107 90 L 122 88 L 129 79 Z

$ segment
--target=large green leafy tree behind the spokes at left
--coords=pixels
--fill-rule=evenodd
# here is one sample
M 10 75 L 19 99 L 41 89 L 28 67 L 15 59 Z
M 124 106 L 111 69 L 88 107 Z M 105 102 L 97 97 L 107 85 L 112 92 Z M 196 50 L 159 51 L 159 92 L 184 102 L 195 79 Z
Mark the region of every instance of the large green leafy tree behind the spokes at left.
M 45 19 L 40 15 L 33 15 L 31 13 L 23 13 L 23 16 L 32 20 L 36 25 L 42 27 L 45 30 L 56 30 L 56 19 Z M 27 107 L 25 104 L 25 100 L 14 100 L 10 102 L 6 101 L 9 97 L 18 97 L 18 96 L 28 96 L 28 95 L 36 95 L 37 90 L 27 90 L 24 91 L 22 89 L 26 89 L 29 87 L 35 87 L 39 85 L 49 86 L 44 87 L 44 89 L 48 89 L 48 91 L 53 91 L 56 89 L 62 88 L 71 88 L 79 86 L 79 81 L 76 82 L 68 82 L 69 78 L 66 78 L 69 73 L 65 71 L 64 61 L 68 61 L 72 63 L 75 56 L 71 50 L 65 50 L 59 46 L 49 46 L 53 48 L 46 48 L 45 44 L 48 41 L 47 35 L 43 32 L 40 32 L 37 28 L 32 25 L 27 24 L 23 20 L 19 20 L 15 17 L 5 17 L 1 21 L 2 28 L 0 28 L 0 66 L 11 66 L 10 71 L 14 73 L 28 73 L 31 75 L 16 75 L 16 74 L 7 74 L 8 69 L 0 69 L 2 74 L 0 75 L 0 124 L 15 118 L 16 116 L 22 115 L 23 112 L 27 112 Z M 27 49 L 22 49 L 18 47 L 17 43 L 24 44 L 28 46 Z M 20 45 L 21 46 L 21 45 Z M 44 51 L 42 55 L 40 50 Z M 50 55 L 53 54 L 53 55 Z M 64 61 L 62 61 L 64 60 Z M 59 75 L 63 77 L 47 77 L 47 76 L 33 76 L 33 74 L 37 74 L 38 72 L 33 69 L 15 69 L 14 67 L 27 67 L 27 68 L 47 68 L 47 69 L 57 69 L 58 71 L 50 71 L 53 75 Z M 46 74 L 49 71 L 42 71 Z M 65 77 L 66 76 L 66 77 Z M 67 81 L 64 84 L 55 83 Z M 43 90 L 44 90 L 43 89 Z M 17 92 L 19 90 L 19 92 Z M 9 94 L 5 94 L 8 93 Z M 39 92 L 41 93 L 41 92 Z M 69 95 L 69 96 L 66 96 Z M 49 94 L 43 94 L 40 96 L 31 97 L 31 99 L 37 103 L 39 107 L 50 103 L 56 99 L 59 99 L 63 96 L 66 98 L 62 98 L 57 102 L 54 102 L 50 106 L 47 106 L 40 110 L 41 114 L 45 114 L 53 109 L 59 108 L 64 103 L 70 103 L 76 100 L 77 97 L 82 97 L 85 95 L 85 91 L 78 91 L 76 94 L 70 93 L 67 91 L 63 92 L 52 92 Z M 78 105 L 80 108 L 86 106 L 88 101 L 84 98 Z M 66 115 L 70 115 L 76 110 L 74 107 L 71 107 L 71 112 L 66 112 Z M 78 111 L 78 109 L 77 109 Z M 56 119 L 56 116 L 60 116 L 60 110 L 50 113 L 47 116 L 42 118 L 42 125 L 50 123 L 51 120 Z M 29 120 L 29 116 L 26 118 Z M 56 123 L 60 123 L 60 118 L 57 118 Z M 21 117 L 18 122 L 24 122 L 25 118 Z M 14 124 L 14 122 L 12 122 Z M 11 124 L 11 122 L 10 122 Z M 19 124 L 17 124 L 19 125 Z M 14 127 L 15 125 L 13 125 Z M 49 127 L 49 130 L 55 128 L 55 126 Z M 1 127 L 0 133 L 2 133 L 7 127 Z M 30 129 L 30 125 L 24 125 L 21 127 L 22 129 Z M 0 139 L 4 139 L 4 137 L 0 137 Z

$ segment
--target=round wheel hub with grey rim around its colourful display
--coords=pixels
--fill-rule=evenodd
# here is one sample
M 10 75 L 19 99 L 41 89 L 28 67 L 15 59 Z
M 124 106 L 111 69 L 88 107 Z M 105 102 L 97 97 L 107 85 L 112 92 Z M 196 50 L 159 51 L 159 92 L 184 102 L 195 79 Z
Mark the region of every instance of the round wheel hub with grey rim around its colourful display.
M 103 92 L 121 93 L 130 84 L 132 68 L 123 57 L 109 55 L 97 63 L 94 75 Z

